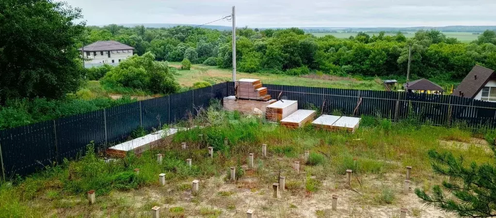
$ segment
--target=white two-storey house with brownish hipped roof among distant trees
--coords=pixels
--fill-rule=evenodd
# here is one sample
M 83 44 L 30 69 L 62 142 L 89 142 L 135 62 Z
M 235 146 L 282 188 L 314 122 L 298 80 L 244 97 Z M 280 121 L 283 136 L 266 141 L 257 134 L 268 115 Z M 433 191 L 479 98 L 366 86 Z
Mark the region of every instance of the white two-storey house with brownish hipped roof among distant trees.
M 97 41 L 79 48 L 85 59 L 85 67 L 103 64 L 118 65 L 129 58 L 134 48 L 117 41 Z

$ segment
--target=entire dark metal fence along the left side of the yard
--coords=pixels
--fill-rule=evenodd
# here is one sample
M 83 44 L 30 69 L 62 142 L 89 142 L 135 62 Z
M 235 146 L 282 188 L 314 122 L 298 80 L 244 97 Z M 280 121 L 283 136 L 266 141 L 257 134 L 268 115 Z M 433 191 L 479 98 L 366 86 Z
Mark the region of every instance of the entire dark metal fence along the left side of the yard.
M 91 141 L 106 148 L 128 138 L 140 125 L 160 129 L 196 115 L 211 99 L 227 96 L 227 83 L 137 101 L 27 126 L 0 130 L 1 174 L 27 175 L 64 158 L 75 158 Z

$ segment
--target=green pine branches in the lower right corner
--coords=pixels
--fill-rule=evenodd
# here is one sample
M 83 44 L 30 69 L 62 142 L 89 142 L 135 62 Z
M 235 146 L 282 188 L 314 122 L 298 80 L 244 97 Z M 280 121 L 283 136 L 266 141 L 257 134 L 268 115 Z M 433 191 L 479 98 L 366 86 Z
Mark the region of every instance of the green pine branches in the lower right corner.
M 491 146 L 496 155 L 496 149 Z M 463 157 L 455 158 L 450 152 L 429 151 L 433 160 L 434 173 L 450 177 L 441 186 L 435 185 L 432 194 L 427 190 L 415 189 L 415 194 L 423 202 L 454 212 L 460 217 L 495 217 L 496 216 L 496 167 L 494 163 L 478 165 L 465 163 Z M 446 195 L 447 191 L 451 195 Z

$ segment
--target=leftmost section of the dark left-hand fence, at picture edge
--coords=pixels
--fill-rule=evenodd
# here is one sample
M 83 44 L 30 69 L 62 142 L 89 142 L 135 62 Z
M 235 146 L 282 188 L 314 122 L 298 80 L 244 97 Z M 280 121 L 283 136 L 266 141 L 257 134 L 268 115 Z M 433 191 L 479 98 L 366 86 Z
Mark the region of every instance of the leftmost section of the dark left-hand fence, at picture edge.
M 27 175 L 57 160 L 54 121 L 0 131 L 5 177 Z

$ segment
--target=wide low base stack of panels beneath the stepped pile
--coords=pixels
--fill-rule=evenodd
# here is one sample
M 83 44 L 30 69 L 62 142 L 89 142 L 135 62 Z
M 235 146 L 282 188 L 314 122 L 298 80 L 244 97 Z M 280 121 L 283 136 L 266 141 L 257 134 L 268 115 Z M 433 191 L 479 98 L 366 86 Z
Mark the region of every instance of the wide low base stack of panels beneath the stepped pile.
M 275 99 L 268 101 L 255 101 L 255 100 L 245 100 L 236 99 L 235 96 L 224 97 L 223 107 L 228 111 L 240 111 L 246 114 L 253 114 L 254 109 L 257 108 L 265 113 L 265 107 L 276 102 Z

